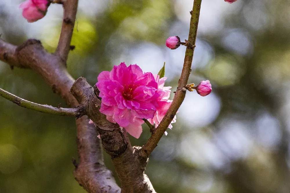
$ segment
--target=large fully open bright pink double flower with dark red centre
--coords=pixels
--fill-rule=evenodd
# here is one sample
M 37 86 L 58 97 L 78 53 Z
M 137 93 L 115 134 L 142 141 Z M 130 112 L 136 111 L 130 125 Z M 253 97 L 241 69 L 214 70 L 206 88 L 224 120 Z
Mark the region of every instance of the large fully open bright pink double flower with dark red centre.
M 138 65 L 123 62 L 98 76 L 97 88 L 102 97 L 100 112 L 107 120 L 139 138 L 142 119 L 152 119 L 158 107 L 158 84 L 151 72 L 143 73 Z

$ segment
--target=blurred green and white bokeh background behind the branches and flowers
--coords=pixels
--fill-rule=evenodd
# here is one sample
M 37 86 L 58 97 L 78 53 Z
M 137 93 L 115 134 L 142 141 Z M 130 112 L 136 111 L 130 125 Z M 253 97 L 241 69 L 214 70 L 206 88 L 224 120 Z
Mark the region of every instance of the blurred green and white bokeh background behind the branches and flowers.
M 27 23 L 21 0 L 0 2 L 0 34 L 19 45 L 28 38 L 56 48 L 60 5 Z M 125 62 L 157 73 L 177 87 L 193 0 L 79 1 L 68 71 L 93 85 L 103 70 Z M 290 1 L 203 0 L 189 83 L 209 79 L 213 92 L 188 92 L 177 122 L 154 150 L 146 174 L 157 192 L 290 192 Z M 62 101 L 31 70 L 0 62 L 0 88 L 57 106 Z M 172 96 L 173 97 L 173 94 Z M 150 132 L 144 125 L 143 145 Z M 0 98 L 0 192 L 85 192 L 74 180 L 73 118 L 20 108 Z M 107 166 L 113 170 L 105 154 Z

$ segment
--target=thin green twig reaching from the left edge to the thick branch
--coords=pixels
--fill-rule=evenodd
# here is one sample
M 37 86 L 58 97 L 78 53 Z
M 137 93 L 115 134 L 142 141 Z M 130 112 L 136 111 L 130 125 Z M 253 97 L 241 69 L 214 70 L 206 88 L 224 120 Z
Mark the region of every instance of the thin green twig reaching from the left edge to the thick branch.
M 12 101 L 13 103 L 21 107 L 24 107 L 30 110 L 35 110 L 38 112 L 62 115 L 62 116 L 76 116 L 77 115 L 77 108 L 61 108 L 61 107 L 57 108 L 57 107 L 52 107 L 50 105 L 40 105 L 37 103 L 27 101 L 25 99 L 21 99 L 20 97 L 17 97 L 14 94 L 11 94 L 10 92 L 7 92 L 6 90 L 3 90 L 1 88 L 0 88 L 0 96 L 5 99 L 8 99 L 9 101 Z

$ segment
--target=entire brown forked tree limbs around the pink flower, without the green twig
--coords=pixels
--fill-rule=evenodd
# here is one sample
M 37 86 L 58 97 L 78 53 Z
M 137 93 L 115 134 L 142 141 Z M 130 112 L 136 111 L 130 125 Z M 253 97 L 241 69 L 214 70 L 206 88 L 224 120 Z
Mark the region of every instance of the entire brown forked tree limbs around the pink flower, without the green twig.
M 184 100 L 191 72 L 201 0 L 194 0 L 189 38 L 184 43 L 187 46 L 184 65 L 173 102 L 158 127 L 153 130 L 152 125 L 151 137 L 143 147 L 132 147 L 127 133 L 122 132 L 118 124 L 107 121 L 106 115 L 99 112 L 101 98 L 98 97 L 98 91 L 93 89 L 86 79 L 81 77 L 74 82 L 66 71 L 65 64 L 68 53 L 72 49 L 70 41 L 78 1 L 52 0 L 50 2 L 63 4 L 64 7 L 61 34 L 55 53 L 46 52 L 38 40 L 30 39 L 17 47 L 0 39 L 0 60 L 5 61 L 11 67 L 35 70 L 69 106 L 78 106 L 77 109 L 73 108 L 76 110 L 74 113 L 79 117 L 76 120 L 79 163 L 75 162 L 77 167 L 74 175 L 85 190 L 88 192 L 120 192 L 112 172 L 104 165 L 102 143 L 104 150 L 111 156 L 122 192 L 155 192 L 144 171 L 149 155 L 157 146 Z M 12 101 L 17 104 L 23 103 L 18 99 Z M 55 109 L 63 110 L 60 107 Z M 88 124 L 88 118 L 92 119 L 97 127 L 94 124 Z M 148 126 L 150 127 L 150 125 Z M 101 140 L 97 138 L 97 133 L 100 134 Z

